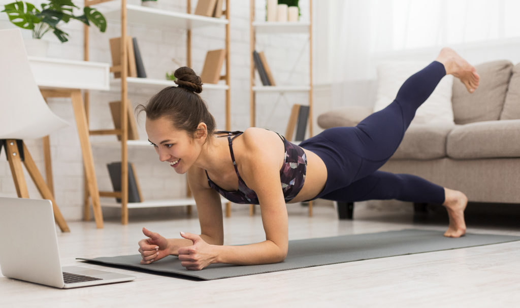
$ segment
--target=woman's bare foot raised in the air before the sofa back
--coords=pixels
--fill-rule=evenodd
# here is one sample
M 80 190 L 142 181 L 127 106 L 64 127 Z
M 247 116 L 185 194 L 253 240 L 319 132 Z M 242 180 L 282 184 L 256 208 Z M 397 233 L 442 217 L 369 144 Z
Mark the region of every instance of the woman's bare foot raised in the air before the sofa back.
M 453 49 L 443 48 L 435 60 L 444 64 L 447 75 L 451 74 L 459 78 L 470 93 L 473 93 L 477 89 L 480 76 L 477 74 L 475 67 L 467 63 L 467 61 L 459 56 Z

